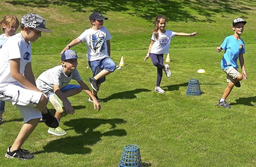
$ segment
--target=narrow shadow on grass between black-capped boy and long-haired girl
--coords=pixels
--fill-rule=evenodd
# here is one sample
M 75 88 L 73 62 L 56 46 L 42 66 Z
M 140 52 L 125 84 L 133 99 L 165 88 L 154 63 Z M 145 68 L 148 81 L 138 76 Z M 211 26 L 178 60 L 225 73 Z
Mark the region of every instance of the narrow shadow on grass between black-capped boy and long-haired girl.
M 150 92 L 151 90 L 148 89 L 135 89 L 135 90 L 128 90 L 125 92 L 118 92 L 118 93 L 114 93 L 111 96 L 108 96 L 107 98 L 103 98 L 102 101 L 103 102 L 107 102 L 109 100 L 112 99 L 133 99 L 133 98 L 137 98 L 137 96 L 135 94 L 140 93 L 140 92 Z

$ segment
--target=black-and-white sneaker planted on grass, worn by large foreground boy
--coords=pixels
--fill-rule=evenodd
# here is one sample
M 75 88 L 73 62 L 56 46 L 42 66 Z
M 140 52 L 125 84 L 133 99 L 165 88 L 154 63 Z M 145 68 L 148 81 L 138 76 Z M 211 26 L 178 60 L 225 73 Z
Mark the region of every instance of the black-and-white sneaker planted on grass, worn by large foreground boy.
M 28 160 L 28 159 L 33 159 L 34 155 L 32 153 L 30 153 L 28 150 L 26 149 L 18 149 L 18 150 L 14 150 L 14 151 L 10 151 L 11 147 L 8 147 L 5 157 L 7 158 L 19 158 L 20 160 Z

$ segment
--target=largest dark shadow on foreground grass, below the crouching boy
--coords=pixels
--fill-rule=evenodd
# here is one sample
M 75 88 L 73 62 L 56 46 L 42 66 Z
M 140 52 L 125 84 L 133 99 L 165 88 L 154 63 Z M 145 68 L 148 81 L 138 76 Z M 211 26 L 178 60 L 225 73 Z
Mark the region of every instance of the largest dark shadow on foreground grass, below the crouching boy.
M 62 137 L 47 143 L 42 151 L 36 152 L 58 152 L 67 155 L 72 154 L 87 154 L 92 149 L 86 147 L 87 145 L 94 145 L 101 140 L 102 136 L 126 136 L 126 131 L 123 129 L 114 129 L 116 124 L 126 123 L 123 119 L 94 119 L 94 118 L 80 118 L 64 122 L 64 125 L 70 127 L 69 130 L 74 130 L 79 136 Z M 94 130 L 99 126 L 109 124 L 110 129 L 107 132 L 100 132 Z

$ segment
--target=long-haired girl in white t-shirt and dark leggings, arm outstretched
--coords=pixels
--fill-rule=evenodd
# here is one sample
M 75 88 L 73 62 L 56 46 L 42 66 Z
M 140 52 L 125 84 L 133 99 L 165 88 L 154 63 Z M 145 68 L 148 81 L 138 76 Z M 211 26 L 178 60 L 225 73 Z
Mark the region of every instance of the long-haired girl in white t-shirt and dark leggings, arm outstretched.
M 157 67 L 157 79 L 156 79 L 156 87 L 155 92 L 164 93 L 165 91 L 160 88 L 160 83 L 163 76 L 163 69 L 166 73 L 166 76 L 169 78 L 171 76 L 171 71 L 169 70 L 169 65 L 164 65 L 164 53 L 167 54 L 169 52 L 169 47 L 171 43 L 171 39 L 177 36 L 196 36 L 198 32 L 193 33 L 178 33 L 170 30 L 164 29 L 166 26 L 166 17 L 165 16 L 156 16 L 155 19 L 155 28 L 153 35 L 151 37 L 151 43 L 148 48 L 148 53 L 146 54 L 146 59 L 149 57 L 152 60 L 154 66 Z

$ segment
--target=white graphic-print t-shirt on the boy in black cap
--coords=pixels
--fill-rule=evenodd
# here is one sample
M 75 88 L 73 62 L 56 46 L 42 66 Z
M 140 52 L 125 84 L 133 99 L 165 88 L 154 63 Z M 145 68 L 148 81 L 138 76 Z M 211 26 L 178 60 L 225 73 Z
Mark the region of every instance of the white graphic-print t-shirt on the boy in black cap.
M 88 61 L 100 60 L 105 57 L 109 57 L 106 41 L 111 38 L 112 37 L 106 27 L 101 27 L 96 31 L 92 28 L 86 29 L 78 37 L 78 39 L 86 42 L 86 57 Z

